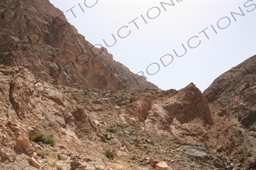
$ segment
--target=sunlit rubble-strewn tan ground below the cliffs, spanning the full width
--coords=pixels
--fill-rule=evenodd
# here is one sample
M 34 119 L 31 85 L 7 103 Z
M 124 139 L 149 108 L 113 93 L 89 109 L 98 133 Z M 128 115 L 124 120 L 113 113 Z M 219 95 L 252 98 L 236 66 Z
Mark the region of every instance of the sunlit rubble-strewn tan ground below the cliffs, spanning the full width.
M 179 91 L 84 93 L 43 82 L 22 66 L 2 65 L 0 165 L 55 169 L 42 155 L 58 150 L 56 162 L 65 168 L 73 160 L 91 169 L 148 169 L 158 162 L 172 169 L 254 168 L 255 123 L 247 114 L 254 111 L 254 86 L 243 83 L 224 105 L 208 103 L 192 83 Z M 42 129 L 55 133 L 55 148 L 30 141 Z

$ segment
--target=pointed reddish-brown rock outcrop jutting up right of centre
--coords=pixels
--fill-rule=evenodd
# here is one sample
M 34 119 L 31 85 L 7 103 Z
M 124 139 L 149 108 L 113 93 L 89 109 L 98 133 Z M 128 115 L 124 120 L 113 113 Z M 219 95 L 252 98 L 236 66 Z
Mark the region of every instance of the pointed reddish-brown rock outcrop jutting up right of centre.
M 125 107 L 121 117 L 146 131 L 195 143 L 209 138 L 206 127 L 213 123 L 207 100 L 193 83 L 180 91 L 134 101 Z

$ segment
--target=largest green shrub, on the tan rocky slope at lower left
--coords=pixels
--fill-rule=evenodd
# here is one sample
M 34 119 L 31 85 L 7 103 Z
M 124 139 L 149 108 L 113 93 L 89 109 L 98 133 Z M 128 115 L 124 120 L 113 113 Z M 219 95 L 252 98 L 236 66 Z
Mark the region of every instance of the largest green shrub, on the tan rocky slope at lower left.
M 43 144 L 50 144 L 52 147 L 55 146 L 54 134 L 44 134 L 43 131 L 38 131 L 31 138 L 34 142 L 43 142 Z

